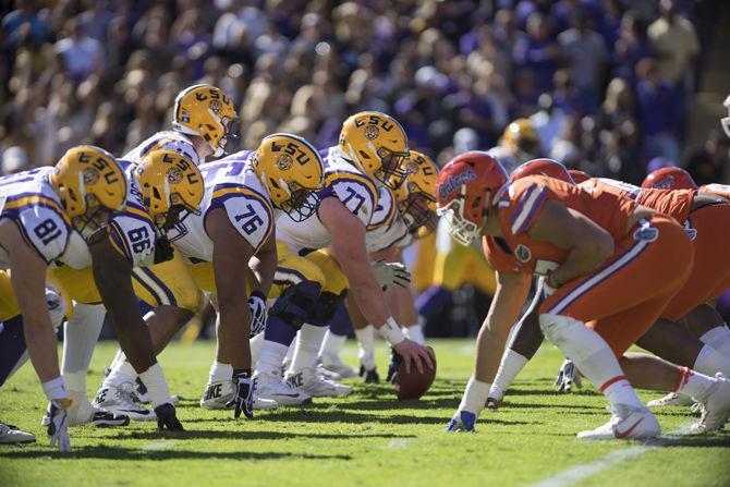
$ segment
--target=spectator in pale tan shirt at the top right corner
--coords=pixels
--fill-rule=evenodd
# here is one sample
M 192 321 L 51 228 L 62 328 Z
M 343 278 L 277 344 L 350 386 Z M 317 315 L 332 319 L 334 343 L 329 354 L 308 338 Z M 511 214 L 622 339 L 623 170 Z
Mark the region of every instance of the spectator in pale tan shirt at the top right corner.
M 692 22 L 677 14 L 674 0 L 661 0 L 659 12 L 661 16 L 648 28 L 659 74 L 683 90 L 691 88 L 694 60 L 699 53 L 697 33 Z

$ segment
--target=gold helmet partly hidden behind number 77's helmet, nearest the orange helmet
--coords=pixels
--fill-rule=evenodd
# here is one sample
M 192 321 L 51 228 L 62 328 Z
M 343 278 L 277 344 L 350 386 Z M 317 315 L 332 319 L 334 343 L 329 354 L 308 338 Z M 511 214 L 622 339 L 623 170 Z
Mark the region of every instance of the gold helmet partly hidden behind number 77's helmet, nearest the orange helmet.
M 436 230 L 436 180 L 438 167 L 425 154 L 409 153 L 404 162 L 405 183 L 394 191 L 398 210 L 411 234 L 419 238 Z

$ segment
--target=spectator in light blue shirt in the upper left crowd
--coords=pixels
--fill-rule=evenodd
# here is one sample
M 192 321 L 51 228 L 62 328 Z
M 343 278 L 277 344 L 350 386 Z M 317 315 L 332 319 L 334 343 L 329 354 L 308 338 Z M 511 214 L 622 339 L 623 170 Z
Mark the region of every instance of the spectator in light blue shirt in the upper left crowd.
M 56 52 L 63 56 L 66 71 L 81 83 L 104 68 L 104 48 L 101 42 L 86 35 L 80 17 L 68 21 L 64 28 L 66 37 L 56 42 Z

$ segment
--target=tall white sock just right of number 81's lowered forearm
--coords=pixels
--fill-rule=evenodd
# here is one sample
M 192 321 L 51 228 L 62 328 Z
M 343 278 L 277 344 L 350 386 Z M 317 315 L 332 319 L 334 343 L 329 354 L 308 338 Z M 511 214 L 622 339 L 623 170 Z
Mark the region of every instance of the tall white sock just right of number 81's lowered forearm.
M 86 394 L 86 372 L 92 363 L 106 313 L 101 304 L 76 304 L 73 316 L 63 325 L 61 372 L 69 390 Z

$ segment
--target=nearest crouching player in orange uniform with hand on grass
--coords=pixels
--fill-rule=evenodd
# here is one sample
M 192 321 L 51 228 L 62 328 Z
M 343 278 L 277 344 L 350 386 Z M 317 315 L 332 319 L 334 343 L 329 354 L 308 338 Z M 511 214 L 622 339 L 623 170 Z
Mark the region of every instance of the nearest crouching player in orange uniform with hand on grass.
M 644 334 L 690 276 L 693 249 L 682 228 L 610 192 L 588 192 L 543 175 L 508 181 L 499 162 L 485 153 L 447 165 L 438 198 L 457 239 L 469 243 L 487 235 L 487 245 L 494 242 L 513 256 L 514 273 L 499 272 L 500 288 L 478 339 L 476 376 L 494 377 L 495 355 L 501 355 L 527 295 L 530 275 L 539 275 L 548 295 L 538 309 L 543 332 L 611 404 L 611 421 L 579 438 L 659 435 L 659 424 L 638 401 L 616 357 Z M 671 266 L 666 255 L 672 255 Z M 723 423 L 730 382 L 662 361 L 653 366 L 662 376 L 670 370 L 684 393 L 705 404 L 707 417 L 693 430 Z M 674 383 L 664 386 L 671 389 Z M 489 385 L 473 377 L 448 429 L 473 429 L 488 392 Z

